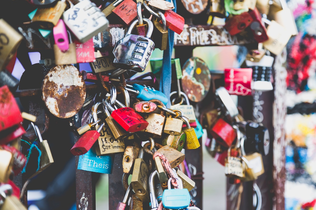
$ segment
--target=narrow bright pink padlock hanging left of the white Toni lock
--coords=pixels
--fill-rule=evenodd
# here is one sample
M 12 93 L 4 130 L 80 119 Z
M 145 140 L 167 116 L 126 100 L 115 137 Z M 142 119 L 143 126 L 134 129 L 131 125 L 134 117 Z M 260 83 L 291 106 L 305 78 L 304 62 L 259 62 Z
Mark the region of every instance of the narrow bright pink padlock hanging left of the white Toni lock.
M 55 44 L 62 52 L 69 50 L 69 39 L 66 26 L 63 20 L 58 20 L 58 23 L 53 28 Z

